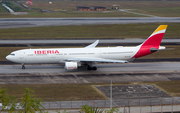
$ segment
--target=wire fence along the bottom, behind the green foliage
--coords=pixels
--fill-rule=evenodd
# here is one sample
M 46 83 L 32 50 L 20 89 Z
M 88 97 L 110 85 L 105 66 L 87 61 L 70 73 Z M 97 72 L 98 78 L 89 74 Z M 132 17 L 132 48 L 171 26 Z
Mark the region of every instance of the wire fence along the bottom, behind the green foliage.
M 61 101 L 61 99 L 44 99 L 42 103 L 45 109 L 79 109 L 82 105 L 89 105 L 98 108 L 110 108 L 110 100 L 82 100 L 82 101 Z M 177 106 L 178 105 L 178 106 Z M 112 107 L 116 107 L 120 112 L 144 113 L 153 111 L 177 111 L 180 110 L 180 97 L 167 98 L 126 98 L 112 101 Z M 2 109 L 2 106 L 0 106 Z

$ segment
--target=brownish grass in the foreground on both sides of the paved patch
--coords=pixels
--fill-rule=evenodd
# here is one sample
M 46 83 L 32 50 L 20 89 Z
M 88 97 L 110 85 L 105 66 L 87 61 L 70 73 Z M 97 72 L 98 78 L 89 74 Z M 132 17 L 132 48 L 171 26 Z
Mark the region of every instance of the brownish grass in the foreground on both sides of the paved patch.
M 124 82 L 113 83 L 113 85 L 128 84 L 152 84 L 168 93 L 171 96 L 180 96 L 180 81 L 158 81 L 158 82 Z M 93 100 L 107 99 L 95 85 L 107 86 L 109 83 L 97 84 L 5 84 L 0 87 L 7 89 L 7 92 L 17 98 L 22 97 L 25 88 L 34 90 L 35 98 L 43 100 Z

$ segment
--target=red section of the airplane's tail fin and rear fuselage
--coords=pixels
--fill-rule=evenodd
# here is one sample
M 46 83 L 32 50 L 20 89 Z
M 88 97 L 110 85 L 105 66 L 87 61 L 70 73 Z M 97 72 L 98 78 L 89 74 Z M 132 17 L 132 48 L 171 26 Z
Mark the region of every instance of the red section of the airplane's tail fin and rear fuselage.
M 159 45 L 161 43 L 163 36 L 164 36 L 164 33 L 160 33 L 160 34 L 156 34 L 148 38 L 141 45 L 139 51 L 132 58 L 139 58 L 139 57 L 151 54 L 152 53 L 150 51 L 151 48 L 159 49 Z

